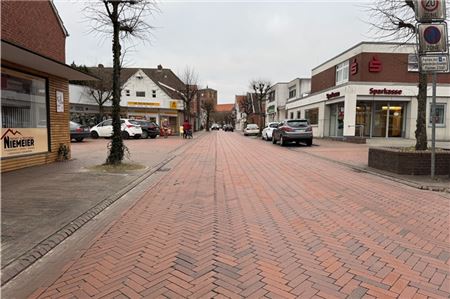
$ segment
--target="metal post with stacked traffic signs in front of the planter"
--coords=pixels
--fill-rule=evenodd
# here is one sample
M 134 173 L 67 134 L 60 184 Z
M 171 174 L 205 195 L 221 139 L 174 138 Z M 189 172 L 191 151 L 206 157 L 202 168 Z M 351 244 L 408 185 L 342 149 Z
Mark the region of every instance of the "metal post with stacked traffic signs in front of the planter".
M 445 0 L 415 0 L 414 2 L 419 41 L 419 70 L 433 76 L 431 103 L 431 178 L 436 170 L 436 81 L 437 73 L 448 72 L 448 34 Z

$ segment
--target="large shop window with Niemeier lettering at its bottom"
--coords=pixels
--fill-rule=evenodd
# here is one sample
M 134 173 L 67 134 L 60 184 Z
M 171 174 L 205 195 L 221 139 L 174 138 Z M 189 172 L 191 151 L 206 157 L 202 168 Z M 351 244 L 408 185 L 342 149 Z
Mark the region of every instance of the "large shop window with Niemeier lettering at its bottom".
M 47 81 L 2 68 L 1 158 L 48 151 Z

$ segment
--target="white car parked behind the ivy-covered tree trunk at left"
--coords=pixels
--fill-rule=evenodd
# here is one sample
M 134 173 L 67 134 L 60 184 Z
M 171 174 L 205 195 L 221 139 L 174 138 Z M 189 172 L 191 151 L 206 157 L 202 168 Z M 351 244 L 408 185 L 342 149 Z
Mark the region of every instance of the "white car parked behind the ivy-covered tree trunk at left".
M 142 128 L 139 123 L 132 119 L 121 119 L 122 137 L 128 139 L 133 137 L 135 139 L 141 138 Z M 91 137 L 97 139 L 98 137 L 111 137 L 113 134 L 112 119 L 102 121 L 98 125 L 91 128 Z

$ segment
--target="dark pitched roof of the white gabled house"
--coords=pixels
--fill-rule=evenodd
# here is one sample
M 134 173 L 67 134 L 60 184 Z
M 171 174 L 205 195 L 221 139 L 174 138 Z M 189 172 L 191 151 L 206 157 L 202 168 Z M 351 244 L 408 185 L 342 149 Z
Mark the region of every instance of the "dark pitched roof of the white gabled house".
M 104 70 L 105 75 L 111 75 L 111 67 L 90 67 L 92 73 L 98 74 L 100 69 Z M 185 84 L 175 75 L 171 69 L 166 68 L 122 68 L 120 70 L 120 84 L 125 84 L 134 74 L 142 70 L 159 88 L 161 88 L 172 99 L 182 99 L 177 90 L 185 89 Z

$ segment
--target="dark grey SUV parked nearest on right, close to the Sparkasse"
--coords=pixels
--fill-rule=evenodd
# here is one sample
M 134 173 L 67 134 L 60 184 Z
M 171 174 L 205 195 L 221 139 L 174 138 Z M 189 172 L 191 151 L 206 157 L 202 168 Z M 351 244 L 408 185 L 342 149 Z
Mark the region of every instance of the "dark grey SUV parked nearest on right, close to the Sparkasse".
M 272 143 L 278 141 L 284 146 L 288 142 L 306 143 L 307 146 L 312 145 L 313 133 L 312 127 L 306 119 L 290 119 L 281 122 L 272 132 Z

